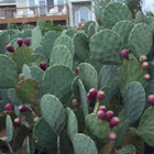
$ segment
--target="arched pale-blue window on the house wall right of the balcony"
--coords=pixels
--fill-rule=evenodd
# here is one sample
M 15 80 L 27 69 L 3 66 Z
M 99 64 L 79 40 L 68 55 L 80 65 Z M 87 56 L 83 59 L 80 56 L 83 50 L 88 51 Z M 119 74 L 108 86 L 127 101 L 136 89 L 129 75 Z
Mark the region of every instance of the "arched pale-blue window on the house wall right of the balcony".
M 86 8 L 86 7 L 80 8 L 80 21 L 87 22 L 88 20 L 89 20 L 88 8 Z

